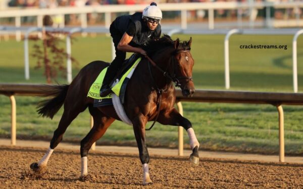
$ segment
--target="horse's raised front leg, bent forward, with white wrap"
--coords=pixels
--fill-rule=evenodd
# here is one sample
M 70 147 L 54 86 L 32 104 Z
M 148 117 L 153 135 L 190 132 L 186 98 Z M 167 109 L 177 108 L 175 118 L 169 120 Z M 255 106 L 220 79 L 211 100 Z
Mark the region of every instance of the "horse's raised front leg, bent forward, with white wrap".
M 189 160 L 191 163 L 193 163 L 193 165 L 198 165 L 199 142 L 194 134 L 194 131 L 191 126 L 191 122 L 185 117 L 183 117 L 175 108 L 171 109 L 170 111 L 160 113 L 158 122 L 160 122 L 161 124 L 182 126 L 186 130 L 189 137 L 190 147 L 192 149 L 192 154 L 190 154 Z

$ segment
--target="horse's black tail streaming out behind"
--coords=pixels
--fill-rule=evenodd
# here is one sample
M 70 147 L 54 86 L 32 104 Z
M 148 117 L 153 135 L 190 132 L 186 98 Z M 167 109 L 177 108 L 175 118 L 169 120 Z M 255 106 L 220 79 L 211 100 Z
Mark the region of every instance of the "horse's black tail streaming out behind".
M 38 114 L 42 115 L 42 117 L 50 117 L 53 119 L 54 115 L 59 111 L 65 101 L 68 88 L 69 85 L 52 86 L 52 89 L 47 91 L 47 94 L 44 96 L 55 97 L 41 101 L 37 106 Z

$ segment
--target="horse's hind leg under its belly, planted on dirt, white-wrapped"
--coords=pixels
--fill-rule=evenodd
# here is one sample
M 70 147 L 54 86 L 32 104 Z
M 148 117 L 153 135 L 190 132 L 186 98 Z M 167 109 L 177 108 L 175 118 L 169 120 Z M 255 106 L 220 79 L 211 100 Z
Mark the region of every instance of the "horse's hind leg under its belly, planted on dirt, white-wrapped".
M 115 121 L 112 117 L 105 116 L 97 108 L 89 107 L 89 112 L 93 116 L 93 127 L 89 133 L 82 139 L 80 154 L 81 154 L 81 177 L 86 176 L 87 172 L 87 154 L 91 145 L 101 138 L 106 130 Z

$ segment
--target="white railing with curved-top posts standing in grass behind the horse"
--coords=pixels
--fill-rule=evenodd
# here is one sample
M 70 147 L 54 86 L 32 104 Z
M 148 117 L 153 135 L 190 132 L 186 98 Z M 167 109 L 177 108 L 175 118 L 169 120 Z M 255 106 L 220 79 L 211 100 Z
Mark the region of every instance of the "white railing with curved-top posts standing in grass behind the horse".
M 25 79 L 29 79 L 29 57 L 28 57 L 28 35 L 33 31 L 41 31 L 41 28 L 16 28 L 16 27 L 0 27 L 0 31 L 16 31 L 16 30 L 25 30 L 27 32 L 24 36 L 24 62 L 25 62 Z M 66 46 L 67 53 L 69 58 L 67 60 L 67 73 L 68 73 L 68 82 L 71 82 L 71 65 L 70 57 L 71 57 L 71 44 L 70 44 L 70 35 L 74 32 L 87 32 L 87 33 L 108 33 L 109 29 L 105 27 L 97 27 L 97 28 L 62 28 L 62 29 L 54 29 L 54 28 L 46 28 L 46 31 L 65 31 L 70 33 L 67 37 Z M 71 33 L 72 32 L 72 33 Z M 225 88 L 230 88 L 230 79 L 229 79 L 229 38 L 232 34 L 242 34 L 242 35 L 294 35 L 293 37 L 293 48 L 292 48 L 292 57 L 293 57 L 293 91 L 297 92 L 297 51 L 296 51 L 296 40 L 297 37 L 303 33 L 303 29 L 214 29 L 214 30 L 184 30 L 184 29 L 173 29 L 173 30 L 163 30 L 163 33 L 167 33 L 168 35 L 173 35 L 177 33 L 182 34 L 198 34 L 198 35 L 226 35 L 224 40 L 224 65 L 225 65 Z M 115 57 L 115 47 L 112 44 L 112 57 Z

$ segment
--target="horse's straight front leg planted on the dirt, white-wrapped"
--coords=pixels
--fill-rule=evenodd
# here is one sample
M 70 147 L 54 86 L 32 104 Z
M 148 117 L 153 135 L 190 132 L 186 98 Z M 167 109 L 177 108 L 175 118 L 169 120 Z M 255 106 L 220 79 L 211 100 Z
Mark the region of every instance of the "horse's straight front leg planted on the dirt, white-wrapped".
M 143 185 L 153 183 L 149 177 L 148 162 L 149 155 L 145 144 L 145 124 L 147 119 L 145 116 L 138 115 L 132 121 L 135 138 L 139 149 L 139 157 L 143 168 Z

